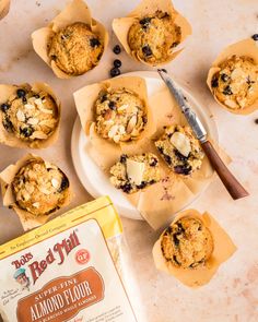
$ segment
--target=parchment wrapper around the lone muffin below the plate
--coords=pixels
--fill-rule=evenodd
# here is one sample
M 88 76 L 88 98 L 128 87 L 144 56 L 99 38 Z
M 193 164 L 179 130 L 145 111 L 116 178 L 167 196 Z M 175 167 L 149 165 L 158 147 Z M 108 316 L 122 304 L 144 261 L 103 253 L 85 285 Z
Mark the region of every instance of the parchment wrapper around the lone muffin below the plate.
M 206 265 L 192 270 L 187 270 L 175 267 L 171 263 L 167 263 L 165 258 L 163 257 L 161 249 L 161 241 L 165 230 L 161 235 L 160 239 L 155 242 L 152 253 L 157 270 L 175 276 L 183 284 L 189 287 L 196 288 L 210 282 L 212 276 L 218 271 L 219 266 L 233 255 L 233 253 L 236 251 L 236 247 L 230 236 L 226 234 L 226 231 L 209 213 L 206 212 L 201 215 L 196 210 L 187 210 L 178 214 L 173 223 L 186 216 L 199 218 L 204 224 L 204 226 L 210 229 L 213 236 L 214 250 L 211 258 L 207 261 Z

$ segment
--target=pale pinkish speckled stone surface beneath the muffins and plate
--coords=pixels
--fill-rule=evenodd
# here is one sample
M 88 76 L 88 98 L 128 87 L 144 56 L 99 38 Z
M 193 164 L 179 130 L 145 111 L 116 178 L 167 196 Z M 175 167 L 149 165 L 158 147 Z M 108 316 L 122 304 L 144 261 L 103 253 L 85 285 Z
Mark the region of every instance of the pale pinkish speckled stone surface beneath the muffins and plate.
M 124 16 L 136 7 L 137 0 L 89 0 L 93 16 L 110 31 L 114 17 Z M 33 51 L 31 33 L 51 20 L 66 1 L 12 0 L 9 15 L 0 21 L 0 82 L 49 83 L 62 100 L 62 127 L 59 141 L 46 151 L 35 152 L 58 164 L 70 176 L 75 198 L 73 207 L 91 200 L 74 172 L 70 136 L 77 116 L 72 92 L 82 85 L 108 77 L 116 56 L 112 47 L 94 71 L 72 80 L 58 80 L 51 70 Z M 145 223 L 122 219 L 132 260 L 139 278 L 149 322 L 256 322 L 258 321 L 258 111 L 247 117 L 234 116 L 213 100 L 206 86 L 210 64 L 221 49 L 238 39 L 258 33 L 257 0 L 191 0 L 174 1 L 175 7 L 190 21 L 194 35 L 186 49 L 166 68 L 199 93 L 203 108 L 214 117 L 220 143 L 232 156 L 231 169 L 250 192 L 250 196 L 234 202 L 215 179 L 207 192 L 191 206 L 208 210 L 227 230 L 238 250 L 221 266 L 214 278 L 204 287 L 192 290 L 173 277 L 159 273 L 151 250 L 159 232 Z M 125 51 L 122 72 L 146 70 Z M 150 70 L 150 69 L 149 69 Z M 0 145 L 0 170 L 25 154 L 25 151 Z M 0 242 L 22 234 L 13 212 L 0 201 Z

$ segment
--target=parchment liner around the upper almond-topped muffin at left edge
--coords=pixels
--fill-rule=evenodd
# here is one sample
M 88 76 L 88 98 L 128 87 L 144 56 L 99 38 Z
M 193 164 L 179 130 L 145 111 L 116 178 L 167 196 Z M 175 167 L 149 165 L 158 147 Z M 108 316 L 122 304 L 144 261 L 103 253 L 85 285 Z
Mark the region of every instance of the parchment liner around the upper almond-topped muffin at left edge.
M 31 86 L 30 84 L 21 84 L 21 85 L 8 85 L 8 84 L 0 84 L 0 105 L 5 103 L 9 97 L 13 94 L 15 94 L 16 90 L 21 86 Z M 19 138 L 16 138 L 13 133 L 9 133 L 2 124 L 2 112 L 0 112 L 0 143 L 12 146 L 12 147 L 20 147 L 20 148 L 45 148 L 49 145 L 54 144 L 59 134 L 60 129 L 60 117 L 61 117 L 61 103 L 52 92 L 52 90 L 49 87 L 49 85 L 45 83 L 35 83 L 32 86 L 32 91 L 40 92 L 44 91 L 47 94 L 49 94 L 54 100 L 56 102 L 57 109 L 58 109 L 58 122 L 56 126 L 55 131 L 51 133 L 50 136 L 48 136 L 46 140 L 34 140 L 32 142 L 30 141 L 23 141 Z

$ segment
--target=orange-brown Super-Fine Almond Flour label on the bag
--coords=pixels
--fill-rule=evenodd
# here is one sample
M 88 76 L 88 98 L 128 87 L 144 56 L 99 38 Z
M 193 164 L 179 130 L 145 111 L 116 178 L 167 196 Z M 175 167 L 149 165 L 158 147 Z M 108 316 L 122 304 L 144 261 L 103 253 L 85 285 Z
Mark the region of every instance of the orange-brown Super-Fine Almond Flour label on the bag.
M 19 300 L 19 322 L 60 322 L 104 298 L 105 285 L 94 267 L 50 281 L 38 291 Z

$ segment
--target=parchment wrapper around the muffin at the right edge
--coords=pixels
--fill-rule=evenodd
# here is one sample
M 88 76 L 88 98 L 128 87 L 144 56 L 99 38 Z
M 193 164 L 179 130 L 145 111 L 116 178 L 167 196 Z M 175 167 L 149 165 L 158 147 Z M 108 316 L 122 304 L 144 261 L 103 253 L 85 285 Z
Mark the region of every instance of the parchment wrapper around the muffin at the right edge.
M 213 90 L 211 86 L 211 82 L 212 79 L 214 76 L 215 73 L 218 73 L 221 69 L 220 69 L 220 64 L 222 62 L 224 62 L 225 60 L 227 60 L 228 58 L 231 58 L 233 55 L 236 56 L 247 56 L 254 59 L 255 63 L 258 64 L 258 46 L 256 44 L 255 40 L 253 40 L 251 38 L 248 39 L 244 39 L 241 40 L 236 44 L 233 44 L 228 47 L 226 47 L 220 55 L 219 57 L 215 59 L 215 61 L 213 61 L 212 67 L 209 70 L 208 73 L 208 79 L 207 79 L 207 84 L 214 97 L 214 99 L 216 100 L 216 103 L 222 106 L 223 108 L 225 108 L 226 110 L 233 112 L 233 114 L 237 114 L 237 115 L 248 115 L 251 114 L 253 111 L 255 111 L 256 109 L 258 109 L 258 98 L 257 100 L 249 107 L 246 108 L 230 108 L 228 106 L 224 105 L 223 103 L 221 103 L 215 95 L 213 94 Z

